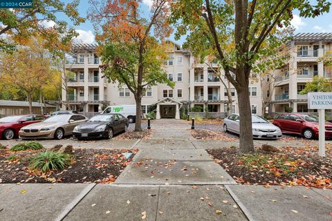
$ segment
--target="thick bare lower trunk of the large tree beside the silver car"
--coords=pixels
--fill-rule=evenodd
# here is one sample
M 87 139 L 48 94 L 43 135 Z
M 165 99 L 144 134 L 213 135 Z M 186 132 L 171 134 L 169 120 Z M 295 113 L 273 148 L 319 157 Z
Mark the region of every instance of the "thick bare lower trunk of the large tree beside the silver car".
M 254 142 L 252 139 L 252 117 L 248 84 L 241 86 L 237 90 L 237 99 L 239 101 L 240 115 L 240 151 L 242 153 L 250 153 L 254 151 Z

